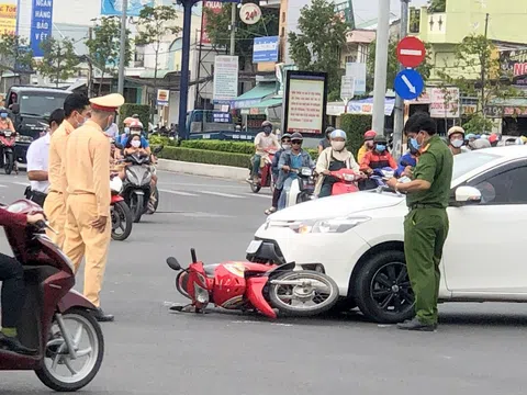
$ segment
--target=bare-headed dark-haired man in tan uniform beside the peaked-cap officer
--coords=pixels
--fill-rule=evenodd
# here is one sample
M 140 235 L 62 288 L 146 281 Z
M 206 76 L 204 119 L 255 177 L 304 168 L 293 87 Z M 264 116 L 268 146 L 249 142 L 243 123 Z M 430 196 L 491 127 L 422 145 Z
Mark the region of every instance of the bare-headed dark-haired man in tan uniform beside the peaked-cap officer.
M 48 181 L 49 193 L 44 202 L 44 213 L 49 226 L 58 233 L 47 230 L 47 236 L 64 247 L 66 224 L 66 169 L 63 167 L 66 145 L 71 132 L 90 116 L 90 101 L 81 93 L 71 93 L 64 101 L 64 121 L 53 133 L 49 142 Z

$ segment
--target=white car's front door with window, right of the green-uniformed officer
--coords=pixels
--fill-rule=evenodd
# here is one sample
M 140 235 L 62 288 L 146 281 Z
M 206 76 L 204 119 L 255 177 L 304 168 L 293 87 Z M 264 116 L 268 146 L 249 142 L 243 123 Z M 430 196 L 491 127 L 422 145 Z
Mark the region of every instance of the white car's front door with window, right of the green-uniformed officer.
M 527 262 L 522 253 L 527 248 L 527 161 L 501 166 L 466 185 L 478 188 L 482 202 L 448 208 L 448 290 L 455 297 L 527 293 Z

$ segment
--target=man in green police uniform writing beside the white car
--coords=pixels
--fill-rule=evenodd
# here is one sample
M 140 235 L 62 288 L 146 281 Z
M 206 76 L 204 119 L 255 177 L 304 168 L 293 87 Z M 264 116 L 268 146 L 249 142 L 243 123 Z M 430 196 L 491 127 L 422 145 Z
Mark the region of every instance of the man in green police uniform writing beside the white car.
M 436 135 L 436 125 L 428 114 L 412 115 L 405 129 L 417 133 L 419 160 L 411 172 L 411 182 L 402 183 L 391 179 L 388 184 L 396 191 L 407 193 L 410 213 L 404 219 L 404 253 L 415 294 L 416 316 L 397 327 L 433 331 L 437 327 L 439 263 L 448 235 L 447 206 L 453 157 Z

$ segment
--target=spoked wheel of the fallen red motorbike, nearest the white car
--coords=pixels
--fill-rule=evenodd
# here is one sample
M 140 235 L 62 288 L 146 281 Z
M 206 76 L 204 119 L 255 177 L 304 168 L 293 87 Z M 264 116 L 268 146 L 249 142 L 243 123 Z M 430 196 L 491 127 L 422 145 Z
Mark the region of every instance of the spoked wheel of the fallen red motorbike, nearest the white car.
M 280 284 L 300 281 L 302 285 Z M 337 283 L 324 273 L 311 270 L 290 271 L 272 279 L 269 286 L 271 305 L 281 313 L 310 317 L 329 311 L 338 302 Z

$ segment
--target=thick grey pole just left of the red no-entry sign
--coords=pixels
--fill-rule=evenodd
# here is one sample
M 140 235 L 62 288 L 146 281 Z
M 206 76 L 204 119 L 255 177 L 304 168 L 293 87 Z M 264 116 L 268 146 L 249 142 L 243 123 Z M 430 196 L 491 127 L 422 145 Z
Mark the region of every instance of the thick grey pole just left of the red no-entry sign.
M 384 100 L 386 95 L 388 40 L 390 33 L 390 7 L 379 0 L 379 18 L 375 44 L 375 76 L 373 80 L 373 122 L 378 134 L 384 133 Z

